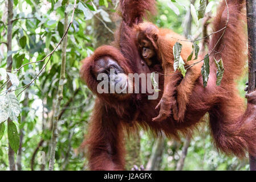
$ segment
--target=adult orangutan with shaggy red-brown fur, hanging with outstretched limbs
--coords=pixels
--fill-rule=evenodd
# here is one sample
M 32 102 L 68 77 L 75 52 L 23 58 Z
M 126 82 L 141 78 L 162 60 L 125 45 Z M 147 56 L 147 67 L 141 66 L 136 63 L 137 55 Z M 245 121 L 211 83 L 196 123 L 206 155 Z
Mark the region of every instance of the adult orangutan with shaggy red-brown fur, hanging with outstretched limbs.
M 242 21 L 245 5 L 244 0 L 227 0 L 227 4 L 229 22 L 223 36 L 222 28 L 226 26 L 227 20 L 225 1 L 221 3 L 213 21 L 213 31 L 222 31 L 213 34 L 209 43 L 209 50 L 214 49 L 214 55 L 210 56 L 208 86 L 204 88 L 202 77 L 198 78 L 186 106 L 184 122 L 174 121 L 173 115 L 162 122 L 153 122 L 152 118 L 159 114 L 159 109 L 155 107 L 160 99 L 148 100 L 147 93 L 97 93 L 97 76 L 103 72 L 109 76 L 111 68 L 115 76 L 121 78 L 128 73 L 162 73 L 160 64 L 152 67 L 141 64 L 142 59 L 136 48 L 136 33 L 133 31 L 135 24 L 143 22 L 146 10 L 153 12 L 155 0 L 120 1 L 123 20 L 113 46 L 97 48 L 94 55 L 83 61 L 80 71 L 88 87 L 97 95 L 89 134 L 84 142 L 88 147 L 92 170 L 124 169 L 124 129 L 132 130 L 140 125 L 144 129 L 151 129 L 156 136 L 163 132 L 167 137 L 179 138 L 179 134 L 191 134 L 207 112 L 218 150 L 239 157 L 245 156 L 248 151 L 256 156 L 256 92 L 246 95 L 248 102 L 245 110 L 243 100 L 235 88 L 235 79 L 241 75 L 246 63 L 246 35 Z M 214 57 L 217 60 L 221 57 L 225 65 L 221 86 L 216 86 Z M 182 80 L 180 75 L 176 76 Z M 159 79 L 162 90 L 164 77 L 160 75 Z M 159 98 L 161 94 L 162 91 Z

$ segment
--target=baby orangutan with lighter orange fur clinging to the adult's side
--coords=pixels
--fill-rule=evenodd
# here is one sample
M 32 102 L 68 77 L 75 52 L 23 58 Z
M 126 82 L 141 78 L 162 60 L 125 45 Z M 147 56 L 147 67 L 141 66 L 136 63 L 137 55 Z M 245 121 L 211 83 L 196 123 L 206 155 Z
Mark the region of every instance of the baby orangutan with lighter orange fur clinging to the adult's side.
M 197 78 L 201 75 L 201 64 L 189 68 L 186 76 L 182 78 L 181 74 L 173 73 L 173 46 L 178 40 L 185 38 L 171 30 L 158 28 L 148 22 L 138 24 L 135 30 L 137 32 L 137 47 L 143 60 L 149 67 L 153 62 L 160 62 L 164 69 L 164 93 L 156 106 L 156 109 L 160 107 L 160 113 L 156 118 L 153 118 L 153 121 L 162 121 L 168 118 L 171 113 L 173 113 L 173 118 L 176 121 L 183 121 L 186 104 L 189 102 Z M 180 43 L 182 44 L 181 57 L 187 65 L 186 60 L 193 51 L 192 43 L 182 41 Z M 196 61 L 193 60 L 189 63 L 192 64 Z

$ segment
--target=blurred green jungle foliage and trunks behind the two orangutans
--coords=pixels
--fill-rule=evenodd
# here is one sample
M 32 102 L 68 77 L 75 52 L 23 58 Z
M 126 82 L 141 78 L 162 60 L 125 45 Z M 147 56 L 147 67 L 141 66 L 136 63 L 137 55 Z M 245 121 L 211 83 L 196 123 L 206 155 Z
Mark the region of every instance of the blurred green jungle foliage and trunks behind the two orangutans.
M 190 5 L 197 10 L 200 0 L 157 0 L 152 22 L 200 39 L 212 31 L 208 24 L 219 3 L 206 2 L 205 17 L 197 22 Z M 72 16 L 74 3 L 0 0 L 0 170 L 48 170 L 55 141 L 54 170 L 88 170 L 86 151 L 79 146 L 95 96 L 79 78 L 80 61 L 111 43 L 120 20 L 116 0 L 76 1 Z M 204 48 L 207 39 L 198 44 Z M 242 97 L 246 70 L 237 81 Z M 6 94 L 7 89 L 13 92 Z M 207 115 L 204 119 L 193 138 L 181 141 L 154 139 L 147 131 L 126 137 L 126 169 L 248 170 L 248 160 L 216 151 Z

